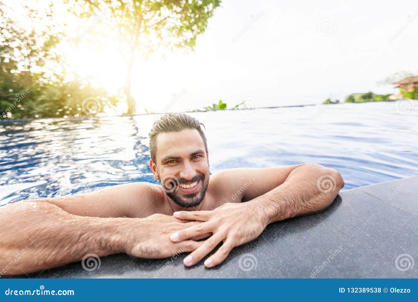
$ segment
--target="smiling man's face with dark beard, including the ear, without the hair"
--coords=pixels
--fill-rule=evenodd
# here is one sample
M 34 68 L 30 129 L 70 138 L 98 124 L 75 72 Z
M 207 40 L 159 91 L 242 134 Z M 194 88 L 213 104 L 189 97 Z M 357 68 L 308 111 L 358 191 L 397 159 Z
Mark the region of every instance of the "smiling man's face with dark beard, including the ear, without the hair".
M 150 161 L 154 178 L 179 206 L 198 206 L 209 184 L 209 159 L 199 132 L 160 133 L 156 144 L 156 162 Z

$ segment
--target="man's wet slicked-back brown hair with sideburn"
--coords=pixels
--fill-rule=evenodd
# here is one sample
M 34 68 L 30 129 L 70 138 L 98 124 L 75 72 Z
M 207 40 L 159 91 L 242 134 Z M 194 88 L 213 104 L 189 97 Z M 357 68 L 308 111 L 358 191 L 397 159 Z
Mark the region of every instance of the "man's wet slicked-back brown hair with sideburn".
M 196 129 L 199 132 L 204 144 L 206 151 L 208 150 L 206 136 L 200 127 L 204 124 L 200 123 L 194 117 L 184 113 L 169 112 L 164 114 L 161 119 L 154 122 L 153 127 L 149 133 L 150 136 L 150 154 L 151 160 L 155 162 L 155 155 L 157 154 L 157 135 L 164 132 L 180 132 L 186 129 Z

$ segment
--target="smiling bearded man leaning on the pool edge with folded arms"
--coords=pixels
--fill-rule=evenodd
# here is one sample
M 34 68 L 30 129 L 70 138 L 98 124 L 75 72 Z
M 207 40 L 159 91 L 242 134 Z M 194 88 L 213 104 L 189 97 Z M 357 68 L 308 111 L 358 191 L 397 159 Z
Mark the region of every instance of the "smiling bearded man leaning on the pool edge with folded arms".
M 213 267 L 269 223 L 325 208 L 344 186 L 336 170 L 313 163 L 209 175 L 200 125 L 181 113 L 153 124 L 150 169 L 161 185 L 127 183 L 0 208 L 0 269 L 7 268 L 0 274 L 122 252 L 141 258 L 191 252 L 184 265 L 192 266 L 222 242 L 204 261 Z M 25 254 L 17 257 L 17 250 Z

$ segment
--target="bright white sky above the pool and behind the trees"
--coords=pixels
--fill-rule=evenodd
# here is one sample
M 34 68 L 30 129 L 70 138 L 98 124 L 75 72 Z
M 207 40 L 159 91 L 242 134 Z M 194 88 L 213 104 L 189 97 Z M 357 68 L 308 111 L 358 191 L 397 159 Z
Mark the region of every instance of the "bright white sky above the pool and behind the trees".
M 416 0 L 306 3 L 224 0 L 195 51 L 135 63 L 133 96 L 154 112 L 201 109 L 219 99 L 232 107 L 243 97 L 259 107 L 319 104 L 330 94 L 343 101 L 370 90 L 397 93 L 377 81 L 418 71 Z M 79 44 L 66 51 L 75 69 L 109 88 L 123 84 L 115 46 Z

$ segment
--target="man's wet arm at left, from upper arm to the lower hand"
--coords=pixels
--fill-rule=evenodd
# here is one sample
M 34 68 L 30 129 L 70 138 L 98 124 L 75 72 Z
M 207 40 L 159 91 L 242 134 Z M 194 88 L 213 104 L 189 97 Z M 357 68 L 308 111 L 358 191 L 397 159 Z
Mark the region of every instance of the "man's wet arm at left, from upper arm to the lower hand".
M 115 204 L 117 200 L 112 198 L 116 198 L 116 193 L 101 192 L 109 193 L 107 200 Z M 87 254 L 100 257 L 126 252 L 141 258 L 165 258 L 201 245 L 196 241 L 173 244 L 168 239 L 171 233 L 192 226 L 195 221 L 162 214 L 146 218 L 109 217 L 122 216 L 123 206 L 100 206 L 102 193 L 88 193 L 81 199 L 70 196 L 20 201 L 1 207 L 0 274 L 28 274 L 78 261 Z M 120 192 L 119 196 L 126 194 Z M 20 255 L 17 250 L 25 250 L 25 254 Z

